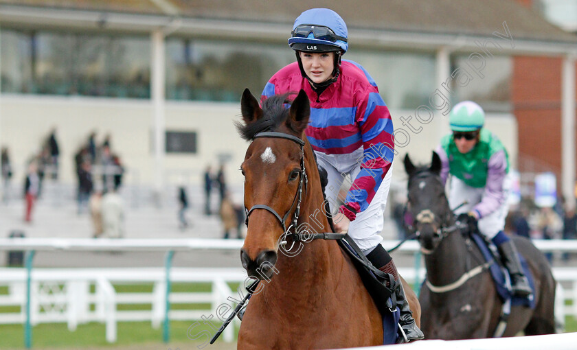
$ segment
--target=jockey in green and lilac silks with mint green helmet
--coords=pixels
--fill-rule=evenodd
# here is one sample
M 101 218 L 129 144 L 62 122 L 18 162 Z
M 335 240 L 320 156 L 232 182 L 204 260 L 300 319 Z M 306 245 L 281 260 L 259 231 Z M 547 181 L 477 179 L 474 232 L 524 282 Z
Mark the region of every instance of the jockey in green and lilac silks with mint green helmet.
M 460 221 L 477 226 L 493 240 L 511 275 L 512 291 L 528 296 L 531 288 L 523 274 L 517 249 L 504 233 L 511 180 L 507 150 L 497 137 L 483 128 L 485 113 L 475 102 L 464 101 L 449 113 L 452 135 L 438 145 L 441 179 L 451 177 L 449 205 L 462 205 L 455 213 Z

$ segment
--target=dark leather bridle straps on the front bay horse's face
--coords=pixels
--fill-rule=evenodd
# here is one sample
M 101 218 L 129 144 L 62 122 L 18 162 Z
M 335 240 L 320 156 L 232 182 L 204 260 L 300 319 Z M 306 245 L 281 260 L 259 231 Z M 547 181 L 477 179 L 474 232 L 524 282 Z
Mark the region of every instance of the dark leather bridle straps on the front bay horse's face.
M 247 219 L 245 220 L 245 224 L 247 226 L 249 226 L 249 215 L 251 215 L 251 213 L 255 209 L 264 209 L 266 211 L 269 211 L 273 215 L 275 215 L 275 218 L 278 219 L 278 221 L 280 222 L 280 225 L 282 226 L 282 232 L 283 233 L 287 233 L 287 231 L 290 230 L 291 227 L 294 227 L 295 228 L 295 232 L 293 233 L 294 240 L 296 242 L 298 242 L 301 237 L 300 237 L 299 233 L 297 232 L 296 228 L 297 228 L 299 215 L 300 215 L 300 204 L 302 201 L 302 189 L 303 189 L 303 185 L 304 185 L 304 187 L 307 187 L 307 185 L 308 185 L 308 177 L 306 176 L 306 169 L 304 167 L 304 141 L 302 139 L 299 139 L 298 137 L 293 136 L 293 135 L 285 134 L 284 132 L 273 132 L 273 131 L 259 132 L 258 134 L 256 134 L 253 137 L 253 139 L 257 139 L 258 137 L 276 137 L 278 139 L 287 139 L 287 140 L 294 141 L 300 145 L 300 149 L 301 149 L 301 161 L 300 161 L 301 171 L 300 171 L 299 188 L 297 189 L 297 193 L 295 194 L 295 199 L 293 199 L 293 204 L 291 205 L 291 208 L 288 209 L 288 211 L 286 211 L 286 213 L 284 214 L 284 216 L 282 218 L 277 213 L 277 211 L 275 211 L 275 209 L 269 207 L 268 205 L 253 205 L 253 207 L 251 207 L 250 210 L 247 210 L 247 207 L 245 207 L 245 211 L 247 213 Z M 285 222 L 286 222 L 286 219 L 288 218 L 288 215 L 290 215 L 291 211 L 293 211 L 293 208 L 295 207 L 295 205 L 296 205 L 296 209 L 295 209 L 295 213 L 293 215 L 293 223 L 291 224 L 291 226 L 288 226 L 288 229 L 287 229 Z

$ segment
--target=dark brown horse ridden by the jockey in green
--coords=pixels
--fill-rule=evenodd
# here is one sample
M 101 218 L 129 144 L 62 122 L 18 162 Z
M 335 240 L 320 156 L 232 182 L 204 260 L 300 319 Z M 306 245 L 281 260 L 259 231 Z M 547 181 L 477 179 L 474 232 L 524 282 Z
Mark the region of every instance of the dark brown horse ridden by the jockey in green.
M 416 167 L 409 155 L 405 156 L 407 209 L 416 218 L 413 226 L 427 268 L 419 296 L 421 329 L 429 339 L 493 338 L 503 303 L 478 246 L 462 234 L 464 228 L 455 225 L 440 170 L 441 160 L 435 152 L 429 167 Z M 532 272 L 535 307 L 512 306 L 501 336 L 514 336 L 519 331 L 525 335 L 553 334 L 556 283 L 549 263 L 530 240 L 520 236 L 511 239 Z

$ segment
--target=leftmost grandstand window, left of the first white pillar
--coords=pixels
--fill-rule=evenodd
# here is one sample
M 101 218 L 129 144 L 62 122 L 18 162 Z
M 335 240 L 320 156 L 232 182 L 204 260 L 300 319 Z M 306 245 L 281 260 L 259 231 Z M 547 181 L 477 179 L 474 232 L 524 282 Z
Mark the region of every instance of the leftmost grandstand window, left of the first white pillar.
M 2 91 L 150 97 L 148 36 L 1 31 Z

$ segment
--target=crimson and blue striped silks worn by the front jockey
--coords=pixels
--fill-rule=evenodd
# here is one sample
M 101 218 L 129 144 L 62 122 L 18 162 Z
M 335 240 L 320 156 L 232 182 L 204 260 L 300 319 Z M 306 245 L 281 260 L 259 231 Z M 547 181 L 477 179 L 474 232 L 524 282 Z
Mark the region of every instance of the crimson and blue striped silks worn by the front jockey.
M 261 100 L 278 93 L 304 89 L 310 100 L 310 120 L 305 130 L 313 150 L 326 154 L 350 154 L 363 148 L 357 163 L 361 172 L 346 197 L 345 215 L 354 220 L 365 210 L 394 156 L 393 123 L 378 87 L 361 65 L 343 60 L 340 75 L 320 95 L 302 77 L 297 62 L 284 67 L 269 80 Z

